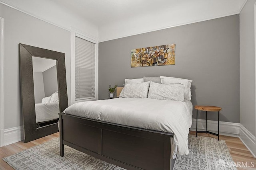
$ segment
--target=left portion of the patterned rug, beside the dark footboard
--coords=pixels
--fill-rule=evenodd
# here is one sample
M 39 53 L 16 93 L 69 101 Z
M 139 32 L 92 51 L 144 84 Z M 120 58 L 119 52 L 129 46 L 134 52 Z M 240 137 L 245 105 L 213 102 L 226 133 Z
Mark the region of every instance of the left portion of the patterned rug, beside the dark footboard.
M 15 170 L 125 170 L 83 152 L 64 146 L 60 156 L 59 138 L 3 158 Z

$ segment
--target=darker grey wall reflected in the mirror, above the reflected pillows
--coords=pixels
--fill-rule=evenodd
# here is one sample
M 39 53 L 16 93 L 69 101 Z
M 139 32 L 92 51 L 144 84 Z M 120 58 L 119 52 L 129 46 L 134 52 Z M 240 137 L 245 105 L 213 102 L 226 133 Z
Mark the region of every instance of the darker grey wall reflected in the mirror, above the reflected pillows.
M 46 97 L 51 96 L 58 91 L 57 68 L 56 65 L 43 72 L 44 94 Z

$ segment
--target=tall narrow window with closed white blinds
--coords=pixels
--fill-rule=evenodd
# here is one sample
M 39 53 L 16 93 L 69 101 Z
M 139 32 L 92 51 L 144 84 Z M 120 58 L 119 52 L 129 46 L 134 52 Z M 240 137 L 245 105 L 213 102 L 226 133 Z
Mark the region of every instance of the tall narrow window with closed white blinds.
M 72 104 L 98 100 L 97 43 L 78 33 L 74 34 L 72 48 Z

